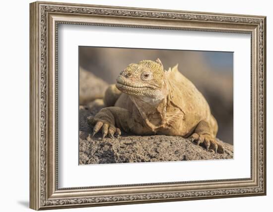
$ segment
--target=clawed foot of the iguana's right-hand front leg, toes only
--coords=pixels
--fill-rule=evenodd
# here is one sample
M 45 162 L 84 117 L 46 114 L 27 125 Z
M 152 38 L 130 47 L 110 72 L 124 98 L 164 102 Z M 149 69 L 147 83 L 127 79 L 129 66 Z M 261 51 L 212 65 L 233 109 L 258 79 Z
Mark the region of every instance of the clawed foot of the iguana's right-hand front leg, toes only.
M 216 141 L 215 138 L 211 137 L 210 135 L 199 135 L 194 133 L 189 137 L 192 141 L 196 141 L 197 145 L 203 144 L 206 150 L 214 150 L 215 153 L 224 153 L 224 146 Z

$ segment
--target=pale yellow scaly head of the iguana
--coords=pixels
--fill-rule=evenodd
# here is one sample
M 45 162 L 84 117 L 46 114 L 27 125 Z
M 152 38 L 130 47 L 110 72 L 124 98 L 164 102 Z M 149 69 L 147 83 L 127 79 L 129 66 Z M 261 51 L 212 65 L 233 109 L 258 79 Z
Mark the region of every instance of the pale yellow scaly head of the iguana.
M 143 60 L 130 64 L 117 78 L 116 87 L 132 96 L 152 101 L 164 98 L 164 69 L 161 61 Z

